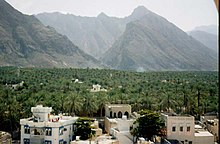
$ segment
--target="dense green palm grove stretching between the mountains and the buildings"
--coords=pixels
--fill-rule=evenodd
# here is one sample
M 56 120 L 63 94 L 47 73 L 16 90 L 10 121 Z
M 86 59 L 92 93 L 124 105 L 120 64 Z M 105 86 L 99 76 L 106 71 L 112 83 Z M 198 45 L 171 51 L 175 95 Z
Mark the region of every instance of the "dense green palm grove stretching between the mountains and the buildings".
M 78 79 L 82 83 L 75 83 Z M 24 82 L 12 88 L 12 85 Z M 99 84 L 107 92 L 90 92 Z M 53 113 L 102 117 L 104 106 L 173 110 L 196 116 L 218 111 L 218 72 L 131 72 L 109 69 L 0 68 L 0 127 L 13 132 L 37 104 Z

